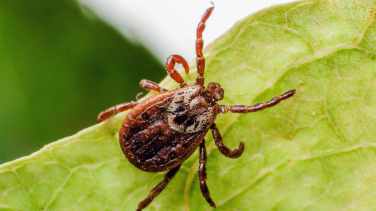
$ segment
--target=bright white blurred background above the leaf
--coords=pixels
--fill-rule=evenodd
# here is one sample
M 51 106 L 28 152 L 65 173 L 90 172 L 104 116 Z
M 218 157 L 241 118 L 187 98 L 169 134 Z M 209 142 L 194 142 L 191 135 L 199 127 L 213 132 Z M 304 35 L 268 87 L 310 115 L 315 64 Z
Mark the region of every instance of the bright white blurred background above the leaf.
M 209 0 L 79 0 L 133 42 L 143 44 L 162 63 L 171 54 L 188 62 L 196 57 L 196 27 Z M 238 20 L 291 0 L 213 0 L 203 32 L 204 47 Z

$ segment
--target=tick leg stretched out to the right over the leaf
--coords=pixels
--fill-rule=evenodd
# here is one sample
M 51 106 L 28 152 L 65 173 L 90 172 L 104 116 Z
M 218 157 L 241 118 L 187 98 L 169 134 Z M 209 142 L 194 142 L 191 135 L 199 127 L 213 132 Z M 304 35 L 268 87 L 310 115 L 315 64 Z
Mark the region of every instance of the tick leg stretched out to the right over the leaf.
M 252 106 L 246 106 L 246 105 L 231 105 L 226 107 L 226 105 L 219 105 L 218 110 L 220 113 L 225 114 L 228 111 L 231 113 L 250 113 L 250 112 L 258 112 L 261 110 L 264 110 L 266 108 L 270 108 L 274 105 L 277 105 L 280 103 L 280 101 L 285 100 L 287 98 L 290 98 L 295 95 L 296 89 L 290 90 L 286 93 L 284 93 L 281 96 L 276 96 L 273 99 L 271 99 L 268 102 L 259 102 L 258 104 L 252 105 Z

